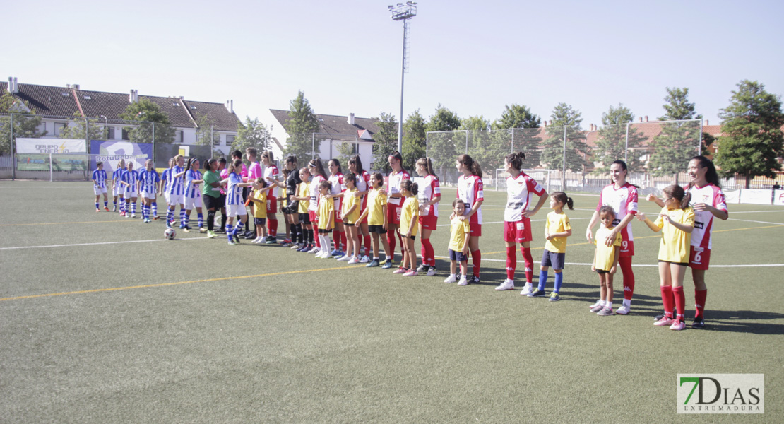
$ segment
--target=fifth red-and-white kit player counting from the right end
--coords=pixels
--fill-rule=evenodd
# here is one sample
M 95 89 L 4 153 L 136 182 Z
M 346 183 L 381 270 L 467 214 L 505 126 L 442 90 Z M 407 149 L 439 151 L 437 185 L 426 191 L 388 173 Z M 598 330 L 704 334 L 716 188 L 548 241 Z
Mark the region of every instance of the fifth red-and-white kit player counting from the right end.
M 422 265 L 418 272 L 427 270 L 428 276 L 436 274 L 436 254 L 430 244 L 430 233 L 437 229 L 438 202 L 441 201 L 441 184 L 430 158 L 416 161 L 416 173 L 425 180 L 419 184 L 419 237 L 422 239 Z

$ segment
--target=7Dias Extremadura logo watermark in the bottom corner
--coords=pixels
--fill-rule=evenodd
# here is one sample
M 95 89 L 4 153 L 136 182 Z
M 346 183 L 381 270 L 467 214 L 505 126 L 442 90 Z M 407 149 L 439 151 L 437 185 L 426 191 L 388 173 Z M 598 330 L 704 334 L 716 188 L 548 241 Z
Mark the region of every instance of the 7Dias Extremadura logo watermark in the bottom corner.
M 764 374 L 678 374 L 678 414 L 764 414 Z

